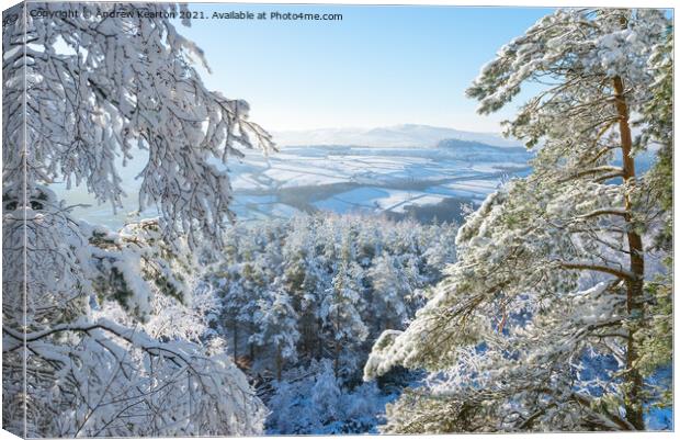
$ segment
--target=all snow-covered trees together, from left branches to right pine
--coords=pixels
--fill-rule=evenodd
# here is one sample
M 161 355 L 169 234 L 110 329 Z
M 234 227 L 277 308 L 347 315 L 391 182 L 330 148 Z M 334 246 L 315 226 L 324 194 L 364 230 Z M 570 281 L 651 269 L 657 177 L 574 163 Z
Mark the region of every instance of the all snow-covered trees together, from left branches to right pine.
M 466 95 L 480 114 L 532 86 L 503 125 L 526 151 L 473 139 L 418 154 L 505 161 L 466 169 L 480 198 L 311 212 L 294 188 L 305 210 L 246 222 L 239 163 L 286 148 L 247 101 L 205 86 L 189 15 L 106 14 L 191 5 L 89 7 L 3 12 L 3 429 L 673 429 L 668 11 L 556 10 L 479 66 Z M 77 189 L 135 213 L 93 223 Z

